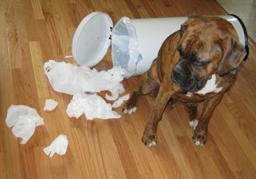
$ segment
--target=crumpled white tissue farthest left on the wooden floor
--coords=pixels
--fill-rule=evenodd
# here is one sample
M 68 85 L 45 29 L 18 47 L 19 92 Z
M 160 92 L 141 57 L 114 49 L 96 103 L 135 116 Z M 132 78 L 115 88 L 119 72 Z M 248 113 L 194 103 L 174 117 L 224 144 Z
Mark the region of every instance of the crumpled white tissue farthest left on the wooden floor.
M 7 111 L 6 124 L 12 127 L 17 138 L 22 138 L 21 144 L 26 143 L 34 134 L 38 125 L 44 125 L 44 118 L 37 111 L 24 105 L 11 105 Z

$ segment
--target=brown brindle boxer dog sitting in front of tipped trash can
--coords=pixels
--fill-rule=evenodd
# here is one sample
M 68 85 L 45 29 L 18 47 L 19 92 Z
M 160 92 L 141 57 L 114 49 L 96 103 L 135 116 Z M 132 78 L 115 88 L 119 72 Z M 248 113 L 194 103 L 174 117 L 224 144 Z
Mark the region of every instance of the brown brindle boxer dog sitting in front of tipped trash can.
M 175 101 L 180 101 L 188 106 L 189 124 L 195 130 L 193 141 L 203 147 L 212 113 L 235 82 L 236 68 L 245 55 L 230 22 L 221 17 L 191 14 L 180 31 L 165 39 L 157 58 L 124 104 L 124 113 L 130 115 L 136 111 L 141 95 L 156 99 L 143 143 L 147 147 L 156 145 L 157 124 L 166 104 L 172 108 Z M 196 120 L 196 104 L 200 102 L 204 102 L 204 108 Z

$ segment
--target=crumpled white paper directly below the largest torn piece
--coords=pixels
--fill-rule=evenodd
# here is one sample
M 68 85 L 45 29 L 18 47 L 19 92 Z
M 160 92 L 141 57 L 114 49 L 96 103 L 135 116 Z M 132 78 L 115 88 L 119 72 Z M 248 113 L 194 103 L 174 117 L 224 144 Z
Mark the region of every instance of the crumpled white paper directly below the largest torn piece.
M 93 118 L 120 118 L 121 116 L 112 110 L 111 104 L 107 104 L 102 97 L 96 94 L 84 94 L 77 92 L 67 107 L 68 117 L 79 118 L 85 115 L 88 120 Z

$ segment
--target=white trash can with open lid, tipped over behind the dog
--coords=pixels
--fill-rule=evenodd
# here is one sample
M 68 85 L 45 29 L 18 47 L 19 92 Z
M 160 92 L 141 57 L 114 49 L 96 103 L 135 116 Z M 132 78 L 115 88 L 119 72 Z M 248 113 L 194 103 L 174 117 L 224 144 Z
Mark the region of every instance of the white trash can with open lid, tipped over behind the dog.
M 248 37 L 241 19 L 236 15 L 220 17 L 234 26 L 239 41 L 246 48 L 247 57 Z M 164 39 L 178 31 L 180 24 L 187 19 L 188 17 L 123 17 L 113 27 L 108 14 L 95 11 L 86 16 L 77 27 L 72 41 L 72 55 L 81 66 L 95 66 L 106 55 L 112 41 L 113 66 L 125 69 L 125 78 L 142 75 L 157 57 Z

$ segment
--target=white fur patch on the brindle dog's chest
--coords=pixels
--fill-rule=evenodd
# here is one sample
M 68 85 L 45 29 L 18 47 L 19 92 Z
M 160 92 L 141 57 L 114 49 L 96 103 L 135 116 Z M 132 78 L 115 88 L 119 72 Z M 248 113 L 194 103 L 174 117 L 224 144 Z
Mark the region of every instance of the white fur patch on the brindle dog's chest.
M 212 75 L 212 78 L 208 80 L 203 89 L 198 90 L 197 92 L 187 92 L 186 96 L 192 96 L 192 94 L 207 94 L 210 92 L 220 92 L 223 87 L 217 87 L 216 85 L 216 74 Z

